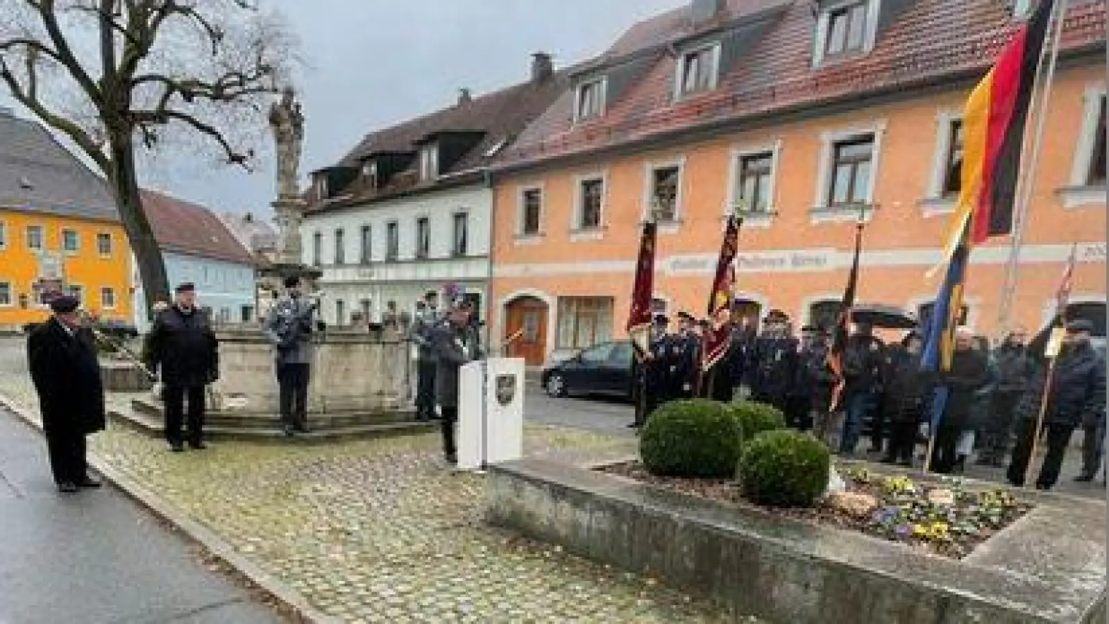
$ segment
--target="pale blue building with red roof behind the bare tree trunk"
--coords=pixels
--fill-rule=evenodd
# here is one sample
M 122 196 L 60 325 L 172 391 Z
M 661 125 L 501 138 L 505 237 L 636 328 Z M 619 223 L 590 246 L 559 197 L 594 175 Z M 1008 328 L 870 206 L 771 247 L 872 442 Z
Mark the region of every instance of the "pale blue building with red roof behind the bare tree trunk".
M 196 285 L 197 304 L 215 323 L 255 320 L 255 260 L 214 213 L 155 191 L 142 192 L 143 208 L 162 250 L 170 287 Z M 145 329 L 146 307 L 135 275 L 135 324 Z

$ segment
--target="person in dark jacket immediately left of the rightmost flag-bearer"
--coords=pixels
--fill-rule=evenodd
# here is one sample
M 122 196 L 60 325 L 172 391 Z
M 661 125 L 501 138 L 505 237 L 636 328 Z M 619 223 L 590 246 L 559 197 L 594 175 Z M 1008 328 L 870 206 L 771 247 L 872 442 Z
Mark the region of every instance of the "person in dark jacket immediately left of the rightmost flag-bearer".
M 1006 336 L 1001 346 L 994 350 L 994 391 L 977 463 L 1000 467 L 1009 450 L 1017 401 L 1034 370 L 1034 362 L 1025 347 L 1027 339 L 1027 333 L 1018 329 Z

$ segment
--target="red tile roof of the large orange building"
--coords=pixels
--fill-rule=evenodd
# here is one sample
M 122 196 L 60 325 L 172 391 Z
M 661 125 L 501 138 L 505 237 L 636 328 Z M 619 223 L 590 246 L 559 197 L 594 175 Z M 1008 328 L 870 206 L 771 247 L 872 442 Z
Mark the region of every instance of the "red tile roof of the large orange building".
M 713 91 L 672 98 L 676 59 L 683 40 L 699 37 L 684 7 L 629 29 L 597 62 L 581 73 L 604 73 L 628 55 L 650 58 L 650 69 L 607 103 L 600 119 L 573 123 L 568 90 L 499 158 L 515 168 L 550 158 L 649 141 L 701 126 L 741 121 L 777 111 L 821 104 L 985 71 L 1008 42 L 1017 22 L 1003 0 L 882 0 L 888 23 L 879 19 L 874 49 L 814 69 L 814 0 L 728 0 L 728 13 L 702 28 L 770 20 L 745 52 L 719 79 Z M 1071 0 L 1064 22 L 1064 48 L 1074 50 L 1106 41 L 1106 0 Z M 740 21 L 735 21 L 739 18 Z M 700 39 L 699 39 L 700 40 Z M 653 50 L 652 50 L 653 48 Z M 668 50 L 669 49 L 669 50 Z

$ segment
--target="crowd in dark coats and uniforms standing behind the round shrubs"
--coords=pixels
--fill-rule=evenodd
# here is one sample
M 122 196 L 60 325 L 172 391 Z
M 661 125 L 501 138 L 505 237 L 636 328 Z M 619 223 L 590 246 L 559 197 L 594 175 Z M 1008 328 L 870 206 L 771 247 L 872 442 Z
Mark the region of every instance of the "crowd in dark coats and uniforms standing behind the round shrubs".
M 1064 324 L 1057 317 L 1031 341 L 1016 330 L 997 348 L 959 327 L 950 368 L 938 374 L 922 370 L 924 337 L 917 330 L 884 342 L 873 327 L 855 324 L 842 354 L 838 409 L 832 410 L 837 377 L 828 365 L 830 329 L 805 326 L 795 336 L 788 316 L 771 310 L 756 331 L 737 313 L 728 351 L 704 371 L 700 350 L 708 323 L 681 313 L 671 331 L 668 317 L 654 318 L 650 352 L 635 372 L 642 396 L 632 427 L 670 400 L 747 398 L 779 408 L 790 427 L 812 431 L 841 456 L 854 456 L 866 436 L 871 453 L 902 466 L 912 466 L 918 444 L 930 440 L 927 463 L 939 473 L 962 473 L 971 457 L 981 466 L 1004 467 L 1008 457 L 1014 485 L 1024 485 L 1039 436 L 1046 452 L 1036 487 L 1042 490 L 1058 481 L 1070 439 L 1080 430 L 1082 466 L 1075 480 L 1091 481 L 1099 470 L 1105 479 L 1106 362 L 1091 344 L 1088 320 Z M 1051 366 L 1045 357 L 1048 339 L 1064 325 Z

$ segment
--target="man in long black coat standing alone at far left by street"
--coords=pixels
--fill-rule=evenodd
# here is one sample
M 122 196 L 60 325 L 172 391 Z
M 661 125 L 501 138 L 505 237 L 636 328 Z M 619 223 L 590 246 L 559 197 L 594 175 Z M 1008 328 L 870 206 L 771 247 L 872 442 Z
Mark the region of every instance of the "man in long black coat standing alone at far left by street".
M 100 487 L 87 472 L 85 436 L 104 428 L 104 386 L 95 337 L 81 327 L 78 300 L 58 297 L 50 308 L 53 316 L 27 340 L 27 356 L 39 395 L 50 470 L 58 489 L 72 493 Z

